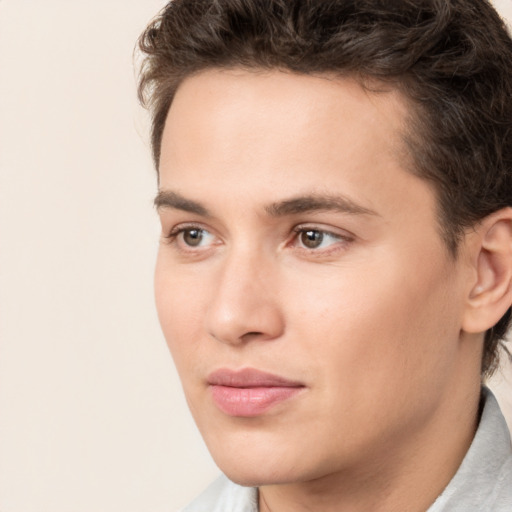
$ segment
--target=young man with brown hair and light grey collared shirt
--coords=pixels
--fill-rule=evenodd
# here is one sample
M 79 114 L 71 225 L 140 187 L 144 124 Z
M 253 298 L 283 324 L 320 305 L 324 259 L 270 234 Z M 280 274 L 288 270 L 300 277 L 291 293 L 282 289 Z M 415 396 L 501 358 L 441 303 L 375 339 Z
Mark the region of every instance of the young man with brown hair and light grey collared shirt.
M 512 510 L 512 42 L 484 0 L 175 0 L 143 34 L 187 511 Z

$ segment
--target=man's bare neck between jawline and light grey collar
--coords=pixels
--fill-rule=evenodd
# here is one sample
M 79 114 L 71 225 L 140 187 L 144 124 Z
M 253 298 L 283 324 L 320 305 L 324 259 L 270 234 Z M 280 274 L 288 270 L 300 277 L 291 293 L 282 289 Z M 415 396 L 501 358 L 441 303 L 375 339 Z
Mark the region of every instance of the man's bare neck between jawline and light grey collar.
M 420 430 L 372 450 L 357 467 L 260 487 L 260 512 L 424 512 L 453 478 L 478 423 L 480 383 L 453 389 Z

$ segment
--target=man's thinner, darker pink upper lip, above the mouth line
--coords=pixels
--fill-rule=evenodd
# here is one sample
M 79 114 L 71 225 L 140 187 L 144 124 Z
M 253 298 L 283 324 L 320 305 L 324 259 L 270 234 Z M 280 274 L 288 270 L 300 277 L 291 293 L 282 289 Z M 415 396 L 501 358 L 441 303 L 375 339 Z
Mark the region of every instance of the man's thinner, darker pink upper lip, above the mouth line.
M 208 375 L 210 386 L 227 386 L 233 388 L 256 388 L 256 387 L 303 387 L 301 382 L 290 380 L 280 375 L 274 375 L 254 368 L 243 368 L 230 370 L 221 368 Z

